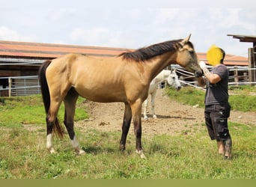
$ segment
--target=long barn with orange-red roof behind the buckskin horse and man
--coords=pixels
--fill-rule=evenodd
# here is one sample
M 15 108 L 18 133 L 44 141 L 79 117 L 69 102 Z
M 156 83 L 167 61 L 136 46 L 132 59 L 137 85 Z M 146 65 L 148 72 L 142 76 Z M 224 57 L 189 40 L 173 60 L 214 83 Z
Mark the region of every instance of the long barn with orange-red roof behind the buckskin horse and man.
M 127 50 L 132 49 L 0 40 L 0 96 L 40 93 L 37 71 L 43 61 L 67 53 L 113 57 Z M 198 58 L 207 61 L 203 52 L 198 52 Z M 244 67 L 249 62 L 245 57 L 226 55 L 225 64 Z

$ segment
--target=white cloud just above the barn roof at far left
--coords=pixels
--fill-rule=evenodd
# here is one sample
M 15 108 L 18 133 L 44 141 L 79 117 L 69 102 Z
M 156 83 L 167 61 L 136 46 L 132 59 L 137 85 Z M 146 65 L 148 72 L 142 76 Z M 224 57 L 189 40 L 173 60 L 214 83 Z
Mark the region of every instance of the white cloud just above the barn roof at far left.
M 18 31 L 14 31 L 5 26 L 0 26 L 0 39 L 1 40 L 13 40 L 13 41 L 27 41 L 32 42 L 37 40 L 37 37 L 34 36 L 24 36 Z

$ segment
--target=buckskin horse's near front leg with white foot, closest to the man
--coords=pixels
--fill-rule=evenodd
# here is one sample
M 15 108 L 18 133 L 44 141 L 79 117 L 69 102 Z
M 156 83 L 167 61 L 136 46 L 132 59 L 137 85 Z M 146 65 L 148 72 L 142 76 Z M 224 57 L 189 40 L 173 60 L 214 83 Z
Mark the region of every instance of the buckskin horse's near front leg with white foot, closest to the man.
M 142 135 L 142 129 L 141 129 L 141 102 L 135 102 L 131 105 L 132 108 L 132 120 L 134 125 L 134 133 L 136 138 L 136 153 L 139 154 L 141 159 L 146 159 L 146 156 L 144 156 L 144 153 L 142 151 L 141 146 L 141 135 Z

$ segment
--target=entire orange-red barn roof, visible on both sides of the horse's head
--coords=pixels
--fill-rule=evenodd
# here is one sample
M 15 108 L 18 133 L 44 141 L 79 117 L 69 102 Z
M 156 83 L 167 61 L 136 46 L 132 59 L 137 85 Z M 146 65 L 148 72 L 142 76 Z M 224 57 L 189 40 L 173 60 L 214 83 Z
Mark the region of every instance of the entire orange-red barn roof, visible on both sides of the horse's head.
M 0 40 L 0 58 L 28 58 L 28 59 L 52 59 L 67 53 L 79 53 L 82 55 L 112 57 L 127 52 L 123 48 L 100 46 L 75 46 L 52 43 L 28 43 Z M 207 62 L 206 53 L 198 52 L 198 59 Z M 226 65 L 248 66 L 248 58 L 226 55 Z

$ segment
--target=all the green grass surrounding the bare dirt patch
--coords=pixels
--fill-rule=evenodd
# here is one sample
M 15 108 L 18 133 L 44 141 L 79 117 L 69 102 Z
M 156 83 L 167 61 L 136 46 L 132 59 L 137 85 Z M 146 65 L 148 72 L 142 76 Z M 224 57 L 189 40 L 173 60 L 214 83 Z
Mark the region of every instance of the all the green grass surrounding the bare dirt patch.
M 183 88 L 174 93 L 172 99 L 204 106 L 202 91 Z M 83 102 L 79 98 L 76 120 L 88 117 Z M 63 106 L 61 113 L 63 117 Z M 76 156 L 67 133 L 63 139 L 54 137 L 57 153 L 50 155 L 44 118 L 40 96 L 0 98 L 0 179 L 256 179 L 255 124 L 228 124 L 234 144 L 231 160 L 218 155 L 207 129 L 198 127 L 204 124 L 195 124 L 192 135 L 143 134 L 147 159 L 140 159 L 132 131 L 123 153 L 118 150 L 121 132 L 79 126 L 76 135 L 85 156 Z

